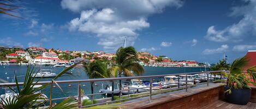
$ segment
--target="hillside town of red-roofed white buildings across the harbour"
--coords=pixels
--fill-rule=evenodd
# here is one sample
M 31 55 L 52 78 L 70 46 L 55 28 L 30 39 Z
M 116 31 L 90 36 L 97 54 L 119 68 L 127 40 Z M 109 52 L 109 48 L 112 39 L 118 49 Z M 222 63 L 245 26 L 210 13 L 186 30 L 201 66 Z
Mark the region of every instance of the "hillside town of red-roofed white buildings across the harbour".
M 46 49 L 42 47 L 0 46 L 0 65 L 70 65 L 72 63 L 86 60 L 113 61 L 115 53 L 69 51 L 61 49 Z M 209 64 L 197 61 L 174 61 L 169 57 L 156 56 L 148 52 L 138 52 L 142 66 L 152 67 L 209 67 Z

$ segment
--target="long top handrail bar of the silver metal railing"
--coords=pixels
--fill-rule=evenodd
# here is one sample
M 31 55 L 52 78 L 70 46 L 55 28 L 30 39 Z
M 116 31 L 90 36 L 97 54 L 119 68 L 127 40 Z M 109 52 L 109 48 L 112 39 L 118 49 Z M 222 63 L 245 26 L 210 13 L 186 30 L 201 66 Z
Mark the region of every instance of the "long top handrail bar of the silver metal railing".
M 97 81 L 113 81 L 113 80 L 127 80 L 127 79 L 141 79 L 141 78 L 158 78 L 163 76 L 170 76 L 170 75 L 184 75 L 184 74 L 199 74 L 199 73 L 215 73 L 215 72 L 229 72 L 227 70 L 217 70 L 217 71 L 207 71 L 207 72 L 192 72 L 192 73 L 176 73 L 176 74 L 165 74 L 165 75 L 150 75 L 150 76 L 129 76 L 129 77 L 122 77 L 122 78 L 101 78 L 101 79 L 86 79 L 86 80 L 59 80 L 55 81 L 58 84 L 65 84 L 65 83 L 76 83 L 76 82 L 97 82 Z M 35 82 L 33 82 L 35 84 Z M 47 85 L 51 84 L 51 81 L 40 81 L 37 82 L 36 85 Z M 23 82 L 18 82 L 21 86 Z M 5 86 L 16 86 L 15 82 L 8 82 L 8 83 L 1 83 L 0 87 Z

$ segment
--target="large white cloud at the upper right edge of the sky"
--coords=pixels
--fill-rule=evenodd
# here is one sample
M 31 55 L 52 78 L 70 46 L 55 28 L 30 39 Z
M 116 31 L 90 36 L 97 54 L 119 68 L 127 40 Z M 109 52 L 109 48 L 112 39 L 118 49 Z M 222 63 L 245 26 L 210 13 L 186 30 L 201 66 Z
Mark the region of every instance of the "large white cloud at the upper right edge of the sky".
M 215 26 L 211 26 L 207 30 L 206 39 L 215 42 L 240 42 L 248 35 L 256 34 L 256 1 L 247 0 L 247 5 L 241 7 L 233 7 L 230 16 L 243 16 L 243 18 L 223 30 L 216 30 Z

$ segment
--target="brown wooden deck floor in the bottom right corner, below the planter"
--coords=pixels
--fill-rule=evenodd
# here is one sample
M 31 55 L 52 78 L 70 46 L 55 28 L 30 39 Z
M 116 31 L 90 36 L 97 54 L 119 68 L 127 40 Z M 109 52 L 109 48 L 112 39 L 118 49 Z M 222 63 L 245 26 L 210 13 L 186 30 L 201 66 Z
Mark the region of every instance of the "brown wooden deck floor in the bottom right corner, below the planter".
M 212 102 L 209 105 L 206 105 L 204 107 L 201 107 L 200 109 L 256 109 L 256 103 L 249 102 L 247 105 L 236 105 L 236 104 L 230 104 L 223 100 L 217 100 L 215 102 Z

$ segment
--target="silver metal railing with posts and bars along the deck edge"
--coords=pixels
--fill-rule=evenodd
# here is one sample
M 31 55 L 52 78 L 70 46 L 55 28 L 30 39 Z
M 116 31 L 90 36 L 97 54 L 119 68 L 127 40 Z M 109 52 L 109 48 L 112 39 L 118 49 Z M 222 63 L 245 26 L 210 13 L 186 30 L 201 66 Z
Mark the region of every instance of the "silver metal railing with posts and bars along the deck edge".
M 207 86 L 209 86 L 209 74 L 211 73 L 217 73 L 217 72 L 229 72 L 227 70 L 217 70 L 217 71 L 207 71 L 207 72 L 192 72 L 192 73 L 175 73 L 175 74 L 165 74 L 165 75 L 150 75 L 150 76 L 130 76 L 130 77 L 122 77 L 122 78 L 102 78 L 102 79 L 86 79 L 86 80 L 59 80 L 59 81 L 55 81 L 57 82 L 58 84 L 67 84 L 67 83 L 78 83 L 78 95 L 77 96 L 74 96 L 74 97 L 63 97 L 63 98 L 55 98 L 55 99 L 52 99 L 52 100 L 61 100 L 61 99 L 67 99 L 67 98 L 78 98 L 78 106 L 79 108 L 82 108 L 82 107 L 88 107 L 88 106 L 94 106 L 94 105 L 102 105 L 102 104 L 109 104 L 109 103 L 112 103 L 112 102 L 116 102 L 116 101 L 122 101 L 122 100 L 128 100 L 128 99 L 135 99 L 135 98 L 139 98 L 139 97 L 131 97 L 129 98 L 129 92 L 128 92 L 128 99 L 120 99 L 120 100 L 114 100 L 114 93 L 115 92 L 119 92 L 121 93 L 122 91 L 131 91 L 131 90 L 134 90 L 134 89 L 130 89 L 128 88 L 128 90 L 120 90 L 120 91 L 114 91 L 114 81 L 115 80 L 132 80 L 132 79 L 145 79 L 145 78 L 148 78 L 150 79 L 150 84 L 149 86 L 147 87 L 141 87 L 141 88 L 136 88 L 137 90 L 138 89 L 145 89 L 145 88 L 149 88 L 149 91 L 147 93 L 149 94 L 146 94 L 146 96 L 148 95 L 148 100 L 151 101 L 152 99 L 152 82 L 153 82 L 153 78 L 163 78 L 164 76 L 171 76 L 171 75 L 177 75 L 178 76 L 178 82 L 177 82 L 177 89 L 185 89 L 186 92 L 188 91 L 188 88 L 191 87 L 191 85 L 188 85 L 188 75 L 192 75 L 192 74 L 207 74 L 207 79 L 206 79 L 206 84 Z M 180 75 L 186 75 L 186 84 L 183 85 L 183 86 L 180 86 Z M 212 74 L 211 74 L 212 75 Z M 223 78 L 221 78 L 223 79 Z M 104 92 L 104 93 L 94 93 L 94 94 L 86 94 L 86 95 L 82 95 L 81 94 L 81 83 L 82 82 L 97 82 L 97 81 L 111 81 L 112 82 L 112 91 L 109 91 L 109 92 Z M 215 81 L 211 81 L 211 82 L 215 82 Z M 40 82 L 37 82 L 34 84 L 37 84 L 37 85 L 46 85 L 46 84 L 51 84 L 52 81 L 40 81 Z M 18 84 L 21 86 L 23 85 L 23 82 L 18 82 Z M 10 86 L 16 86 L 16 84 L 14 82 L 9 82 L 9 83 L 0 83 L 0 87 L 10 87 Z M 172 89 L 172 88 L 170 88 Z M 108 101 L 108 102 L 100 102 L 100 103 L 97 103 L 97 104 L 92 104 L 92 105 L 87 105 L 87 106 L 82 106 L 82 97 L 85 97 L 85 96 L 91 96 L 93 98 L 94 95 L 98 95 L 98 94 L 106 94 L 106 93 L 112 93 L 112 97 L 111 97 L 111 101 Z M 145 97 L 142 95 L 142 97 Z M 92 99 L 93 101 L 93 99 Z

